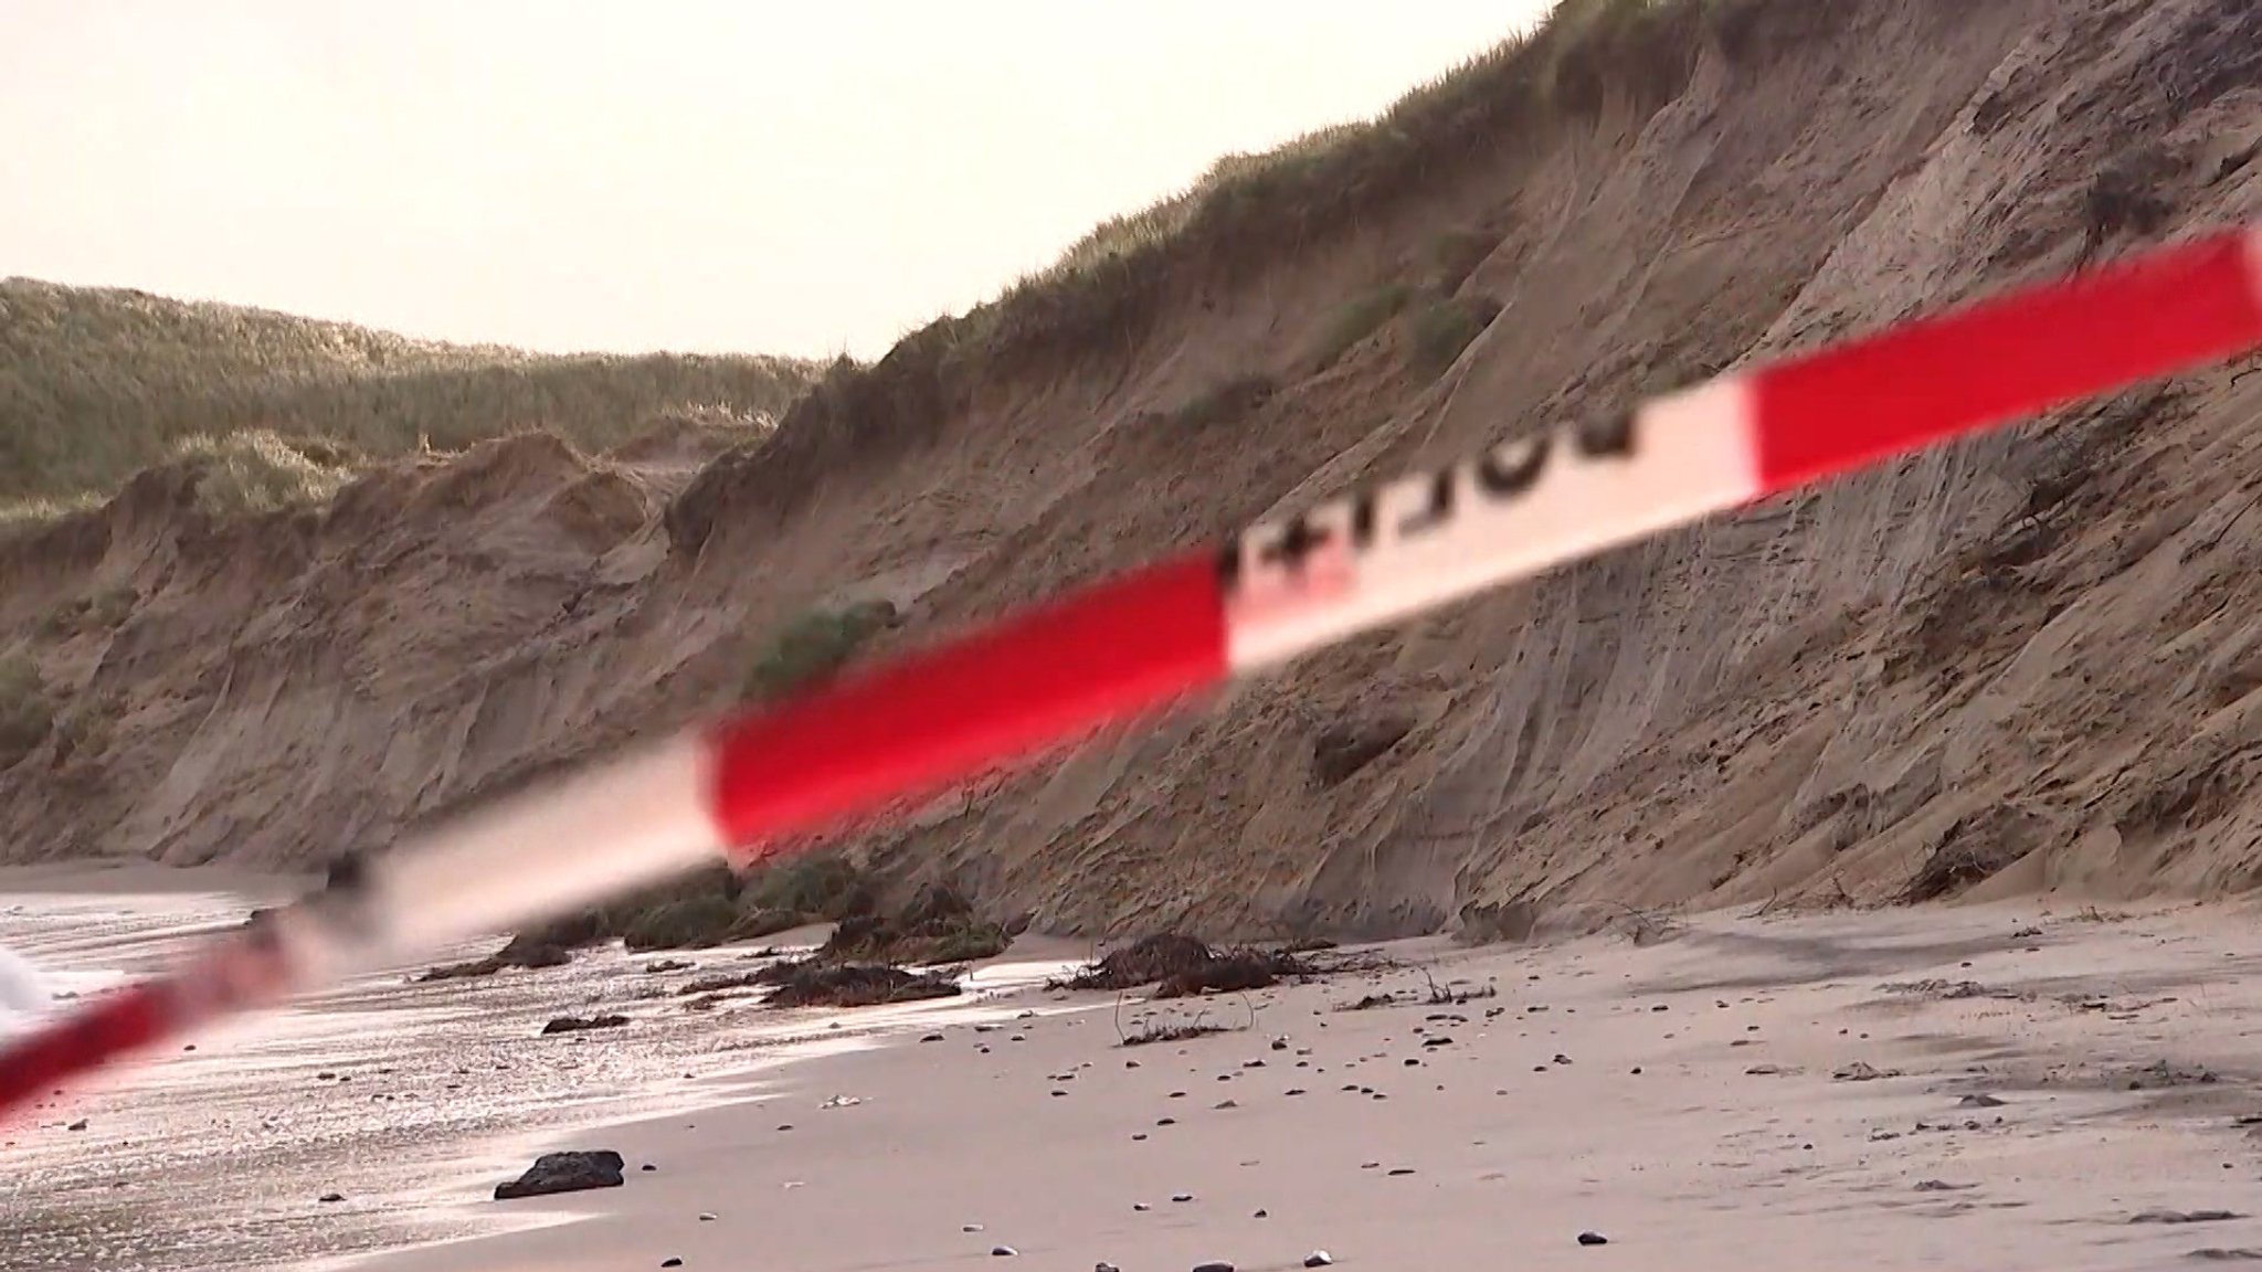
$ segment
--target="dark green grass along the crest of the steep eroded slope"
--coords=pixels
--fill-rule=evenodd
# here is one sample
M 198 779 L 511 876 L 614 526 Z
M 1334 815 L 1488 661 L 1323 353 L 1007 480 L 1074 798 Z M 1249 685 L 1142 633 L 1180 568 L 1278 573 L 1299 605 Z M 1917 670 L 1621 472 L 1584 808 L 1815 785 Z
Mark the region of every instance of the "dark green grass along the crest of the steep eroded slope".
M 1244 285 L 1389 215 L 1441 172 L 1495 161 L 1502 147 L 1568 120 L 1613 104 L 1660 106 L 1687 84 L 1706 41 L 1730 59 L 1776 57 L 1785 43 L 1762 34 L 1825 25 L 1828 16 L 1814 16 L 1821 9 L 1812 0 L 1561 0 L 1534 32 L 1407 93 L 1380 118 L 1226 156 L 1183 195 L 1102 224 L 995 301 L 927 324 L 871 367 L 835 367 L 794 403 L 760 462 L 715 464 L 685 491 L 670 534 L 697 545 L 715 530 L 715 509 L 737 498 L 787 509 L 805 498 L 814 469 L 893 462 L 932 444 L 977 378 L 1108 358 L 1151 333 L 1190 285 Z M 1441 260 L 1441 281 L 1475 265 L 1464 244 L 1459 258 Z M 1391 317 L 1387 301 L 1348 312 L 1314 362 Z M 1436 321 L 1448 317 L 1432 315 L 1434 335 L 1454 333 Z M 1434 340 L 1430 355 L 1448 346 Z

